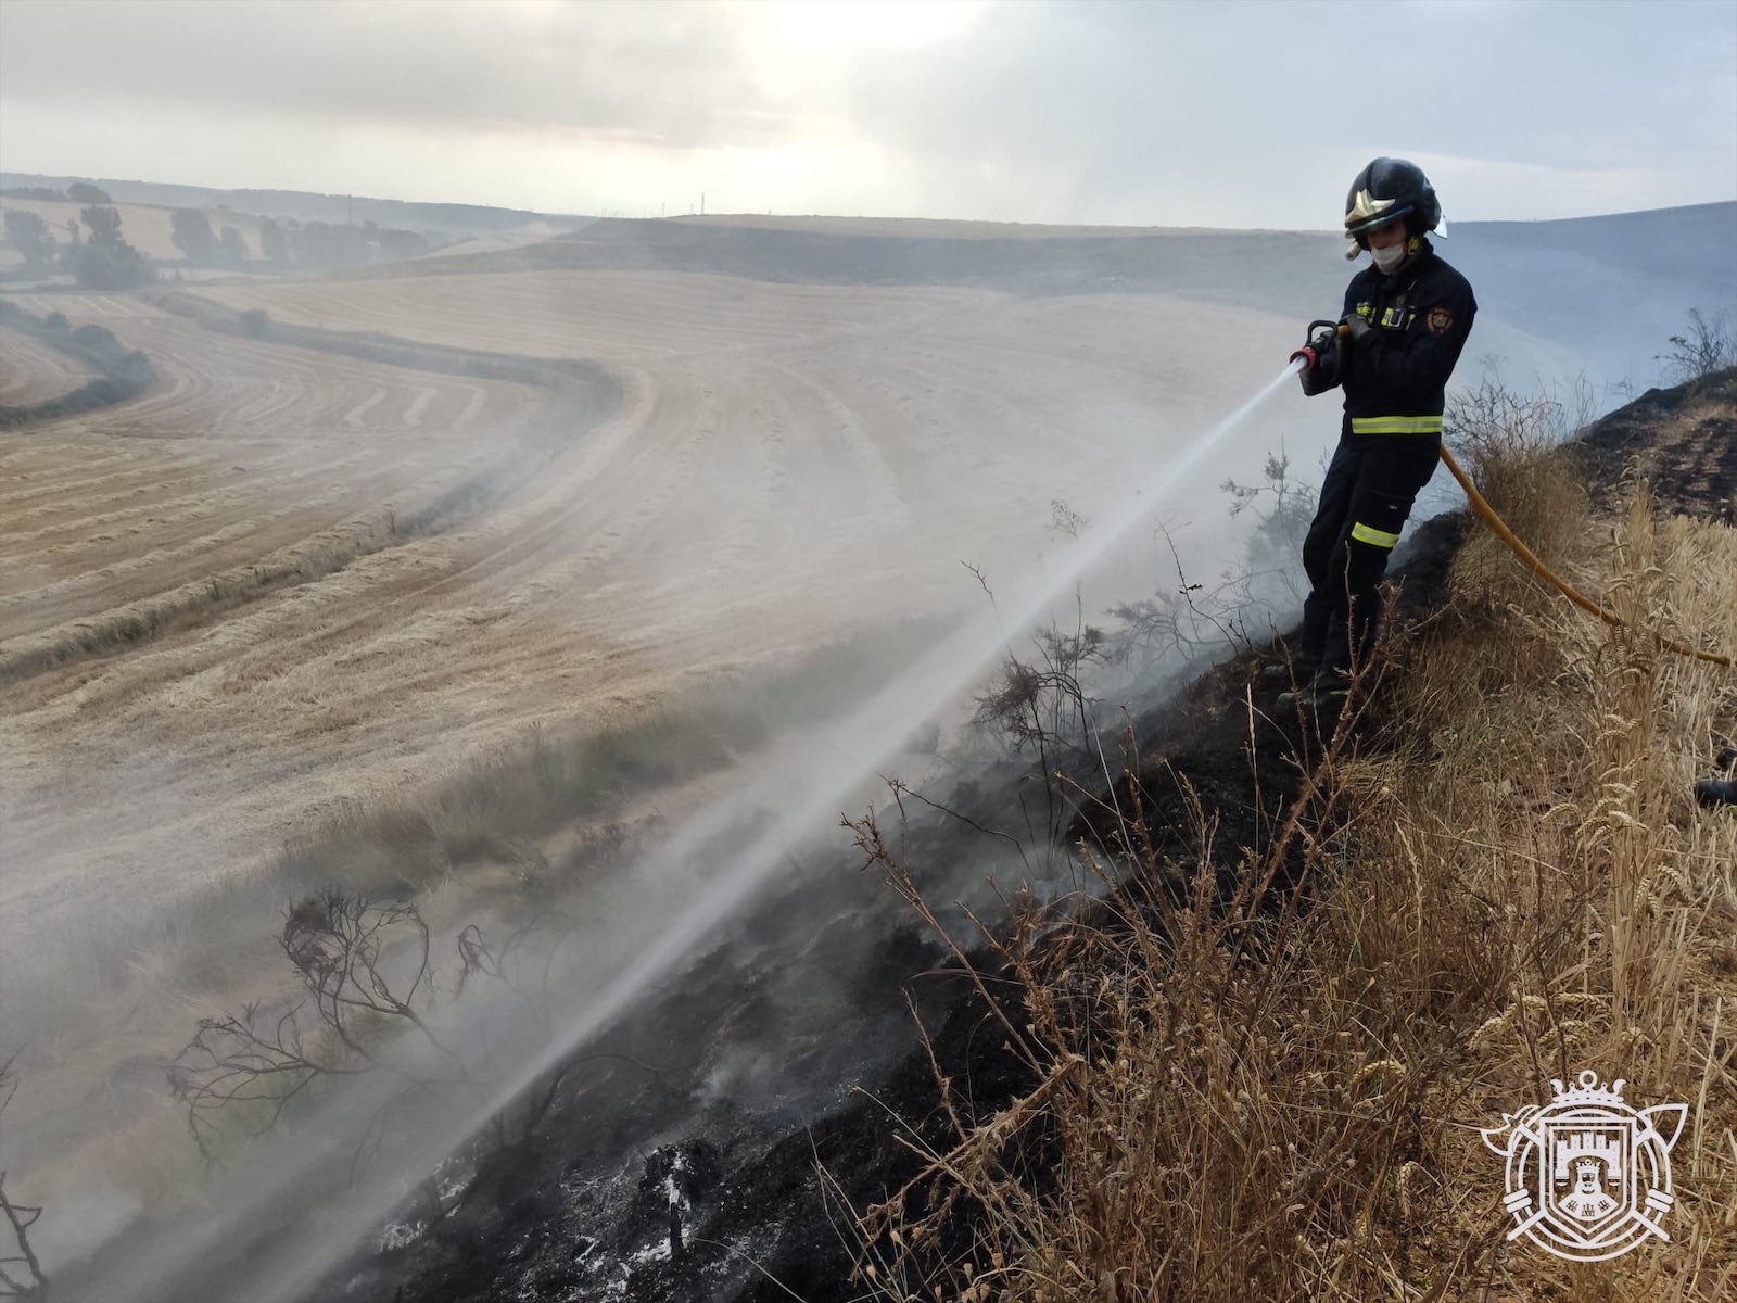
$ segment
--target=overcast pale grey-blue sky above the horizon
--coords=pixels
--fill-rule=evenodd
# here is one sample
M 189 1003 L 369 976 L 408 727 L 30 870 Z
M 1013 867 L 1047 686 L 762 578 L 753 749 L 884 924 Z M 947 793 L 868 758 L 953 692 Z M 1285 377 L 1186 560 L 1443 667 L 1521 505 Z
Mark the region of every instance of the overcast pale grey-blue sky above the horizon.
M 1737 198 L 1734 0 L 0 0 L 0 169 L 657 215 Z

